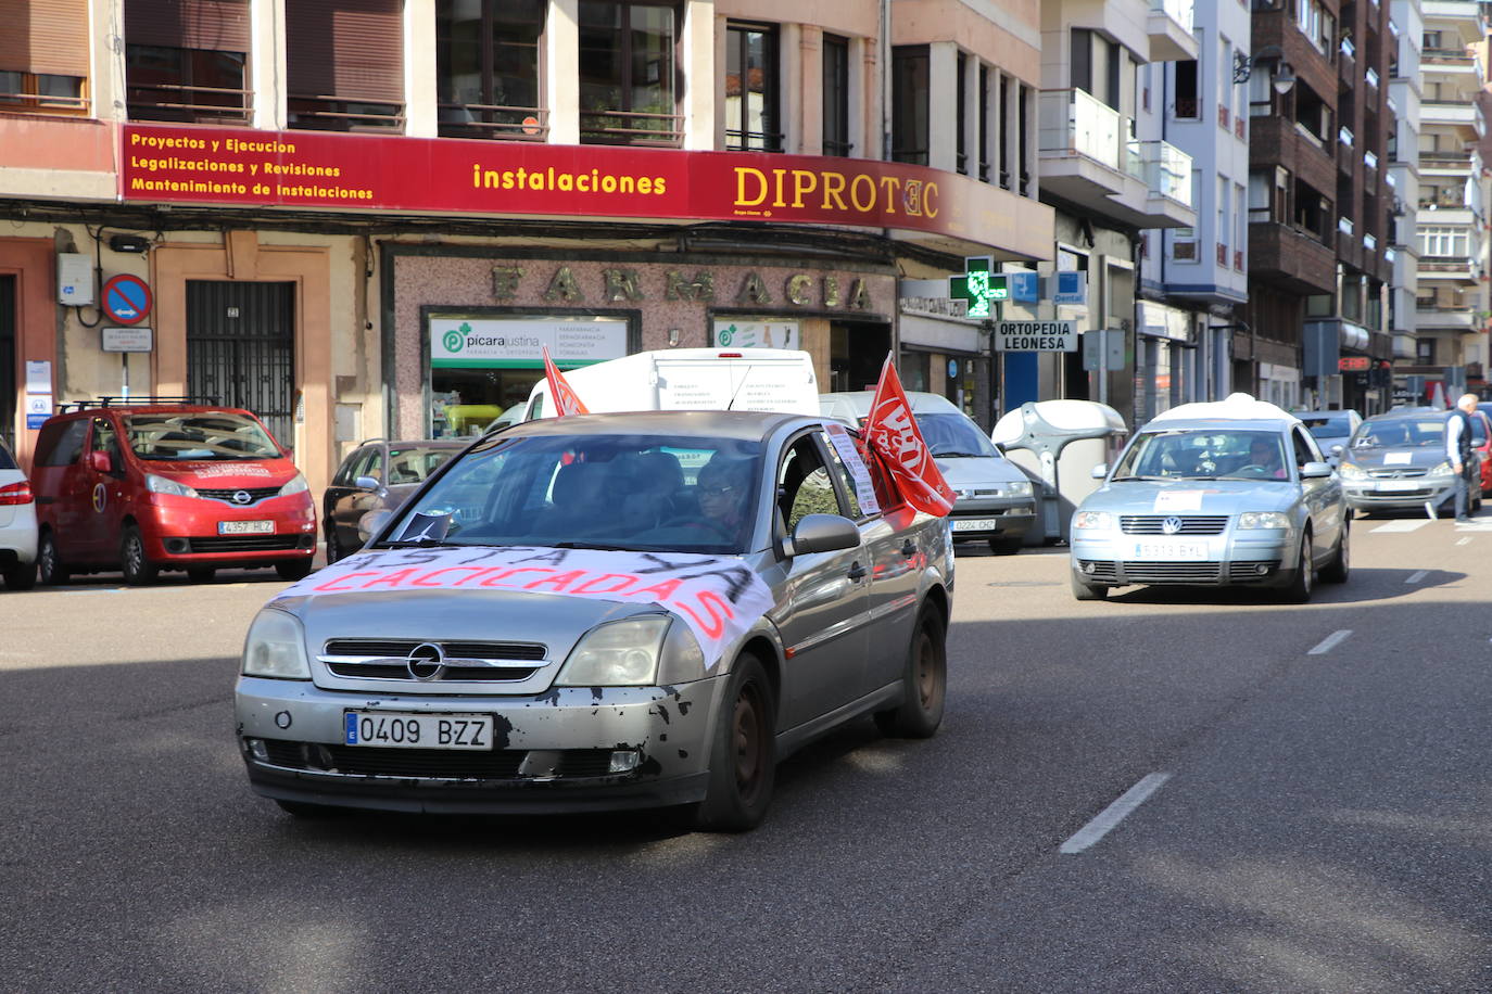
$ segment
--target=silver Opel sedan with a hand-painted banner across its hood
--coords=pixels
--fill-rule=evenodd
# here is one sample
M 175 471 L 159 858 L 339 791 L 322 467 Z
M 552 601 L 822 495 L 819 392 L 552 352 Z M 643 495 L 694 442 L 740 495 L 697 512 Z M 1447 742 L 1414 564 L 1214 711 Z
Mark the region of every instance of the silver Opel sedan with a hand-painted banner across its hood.
M 750 829 L 815 736 L 941 721 L 947 528 L 880 474 L 789 414 L 494 432 L 260 611 L 249 782 L 300 815 L 680 806 Z

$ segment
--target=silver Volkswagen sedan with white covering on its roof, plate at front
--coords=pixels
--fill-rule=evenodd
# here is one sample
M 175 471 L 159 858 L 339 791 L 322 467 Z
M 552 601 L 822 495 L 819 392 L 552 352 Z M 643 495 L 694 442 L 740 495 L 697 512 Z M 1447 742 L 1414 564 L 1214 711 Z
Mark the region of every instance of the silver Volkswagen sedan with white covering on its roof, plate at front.
M 1216 413 L 1223 404 L 1186 405 Z M 1073 514 L 1079 601 L 1125 584 L 1252 584 L 1311 596 L 1316 574 L 1347 580 L 1341 484 L 1310 432 L 1280 408 L 1262 417 L 1186 417 L 1135 432 L 1104 486 Z

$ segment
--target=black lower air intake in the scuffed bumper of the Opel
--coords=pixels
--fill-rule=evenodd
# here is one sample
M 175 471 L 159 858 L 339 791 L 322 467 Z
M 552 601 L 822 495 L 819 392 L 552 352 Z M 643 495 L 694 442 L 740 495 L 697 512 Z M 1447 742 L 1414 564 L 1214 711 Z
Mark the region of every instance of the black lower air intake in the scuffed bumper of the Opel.
M 519 779 L 527 750 L 385 750 L 266 739 L 270 765 L 345 776 L 415 779 Z M 562 750 L 560 776 L 610 775 L 612 750 Z

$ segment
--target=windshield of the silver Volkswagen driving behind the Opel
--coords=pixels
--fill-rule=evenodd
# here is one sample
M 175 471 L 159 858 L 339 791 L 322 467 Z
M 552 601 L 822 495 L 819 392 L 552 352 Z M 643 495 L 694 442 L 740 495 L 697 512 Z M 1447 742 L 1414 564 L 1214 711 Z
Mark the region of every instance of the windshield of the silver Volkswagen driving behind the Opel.
M 1155 431 L 1129 446 L 1115 480 L 1285 480 L 1285 435 L 1271 431 Z

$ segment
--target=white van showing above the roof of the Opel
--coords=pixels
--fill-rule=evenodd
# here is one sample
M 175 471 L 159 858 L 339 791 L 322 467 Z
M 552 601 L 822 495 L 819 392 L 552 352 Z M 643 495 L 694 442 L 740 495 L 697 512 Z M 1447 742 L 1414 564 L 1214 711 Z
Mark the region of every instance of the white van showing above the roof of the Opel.
M 568 370 L 565 382 L 592 414 L 607 411 L 819 413 L 813 358 L 792 349 L 659 349 Z M 528 393 L 522 420 L 554 416 L 548 377 Z

